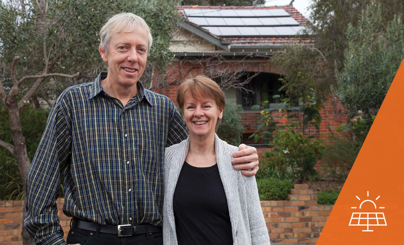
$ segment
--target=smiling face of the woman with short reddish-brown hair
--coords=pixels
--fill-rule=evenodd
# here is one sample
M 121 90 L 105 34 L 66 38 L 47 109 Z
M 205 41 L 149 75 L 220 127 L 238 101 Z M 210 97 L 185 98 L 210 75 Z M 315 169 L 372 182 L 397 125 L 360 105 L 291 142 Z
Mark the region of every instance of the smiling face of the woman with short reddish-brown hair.
M 194 98 L 186 93 L 182 114 L 190 136 L 204 138 L 214 134 L 216 122 L 222 119 L 223 110 L 218 108 L 212 98 Z

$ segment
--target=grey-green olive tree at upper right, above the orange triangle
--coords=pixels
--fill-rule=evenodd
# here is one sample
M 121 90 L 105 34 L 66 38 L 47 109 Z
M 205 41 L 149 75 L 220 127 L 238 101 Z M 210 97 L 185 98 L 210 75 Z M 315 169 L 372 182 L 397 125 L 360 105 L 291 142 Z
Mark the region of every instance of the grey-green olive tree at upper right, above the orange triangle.
M 381 5 L 369 4 L 358 24 L 349 25 L 346 38 L 337 93 L 351 118 L 359 112 L 370 122 L 404 57 L 404 23 L 396 16 L 383 25 Z

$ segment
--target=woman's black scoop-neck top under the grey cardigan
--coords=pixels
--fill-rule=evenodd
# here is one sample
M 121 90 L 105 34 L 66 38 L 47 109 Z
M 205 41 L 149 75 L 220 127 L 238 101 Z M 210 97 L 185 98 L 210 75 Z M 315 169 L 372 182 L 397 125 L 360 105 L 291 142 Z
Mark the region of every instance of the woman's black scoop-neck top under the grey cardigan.
M 226 194 L 217 164 L 184 163 L 173 197 L 178 245 L 233 245 Z

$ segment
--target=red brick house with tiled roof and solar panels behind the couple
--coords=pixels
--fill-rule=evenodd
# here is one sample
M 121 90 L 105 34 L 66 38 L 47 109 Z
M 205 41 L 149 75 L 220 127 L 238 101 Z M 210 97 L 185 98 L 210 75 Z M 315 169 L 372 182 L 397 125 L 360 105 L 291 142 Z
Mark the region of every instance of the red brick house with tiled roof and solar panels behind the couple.
M 309 37 L 302 36 L 307 19 L 292 5 L 196 5 L 179 6 L 178 11 L 183 19 L 170 45 L 175 60 L 167 69 L 167 84 L 154 90 L 176 103 L 178 85 L 189 73 L 201 72 L 212 77 L 221 83 L 227 99 L 242 105 L 242 123 L 246 128 L 242 142 L 255 145 L 248 136 L 257 128 L 260 111 L 251 110 L 251 106 L 269 100 L 271 108 L 283 108 L 279 98 L 272 97 L 280 93 L 278 79 L 282 73 L 269 58 L 283 51 L 285 45 L 310 43 Z M 307 128 L 304 133 L 325 139 L 346 121 L 341 112 L 338 103 L 330 99 L 321 111 L 320 127 Z M 285 123 L 285 119 L 279 123 Z

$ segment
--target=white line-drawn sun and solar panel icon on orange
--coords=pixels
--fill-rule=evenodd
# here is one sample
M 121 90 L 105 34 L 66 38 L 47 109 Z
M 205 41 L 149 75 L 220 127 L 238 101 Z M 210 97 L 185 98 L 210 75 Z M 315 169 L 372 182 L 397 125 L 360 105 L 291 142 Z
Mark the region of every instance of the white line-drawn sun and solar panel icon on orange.
M 367 191 L 367 197 L 369 197 L 369 191 Z M 356 198 L 361 201 L 361 199 L 356 196 Z M 379 199 L 380 196 L 376 198 Z M 376 208 L 376 204 L 372 200 L 364 200 L 361 205 L 359 206 L 359 209 L 362 208 L 362 204 L 370 202 L 374 205 L 374 208 Z M 352 209 L 356 209 L 358 207 L 351 207 Z M 380 209 L 384 209 L 384 207 L 379 207 Z M 369 226 L 387 226 L 386 223 L 386 218 L 384 217 L 384 212 L 353 212 L 351 216 L 351 220 L 349 221 L 350 226 L 366 226 L 366 230 L 362 231 L 367 231 L 367 232 L 372 232 L 373 230 L 369 230 Z

